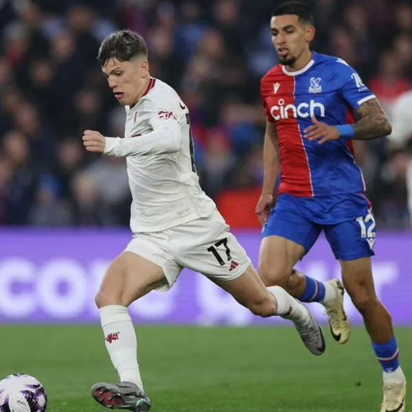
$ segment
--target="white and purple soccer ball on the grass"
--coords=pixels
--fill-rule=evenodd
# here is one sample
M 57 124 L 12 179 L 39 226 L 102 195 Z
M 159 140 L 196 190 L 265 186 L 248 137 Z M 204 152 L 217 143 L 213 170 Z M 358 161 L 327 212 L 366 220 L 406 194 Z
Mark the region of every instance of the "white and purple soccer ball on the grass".
M 30 375 L 14 374 L 0 380 L 0 412 L 45 412 L 47 393 Z

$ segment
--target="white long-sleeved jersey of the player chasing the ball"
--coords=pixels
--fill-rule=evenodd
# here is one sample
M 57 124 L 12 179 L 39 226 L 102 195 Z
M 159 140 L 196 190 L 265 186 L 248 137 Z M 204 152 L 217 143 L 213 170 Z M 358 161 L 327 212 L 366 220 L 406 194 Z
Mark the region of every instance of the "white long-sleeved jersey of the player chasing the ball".
M 104 154 L 126 156 L 133 233 L 163 231 L 216 209 L 198 183 L 189 111 L 161 80 L 150 79 L 139 102 L 126 106 L 124 138 L 106 137 Z

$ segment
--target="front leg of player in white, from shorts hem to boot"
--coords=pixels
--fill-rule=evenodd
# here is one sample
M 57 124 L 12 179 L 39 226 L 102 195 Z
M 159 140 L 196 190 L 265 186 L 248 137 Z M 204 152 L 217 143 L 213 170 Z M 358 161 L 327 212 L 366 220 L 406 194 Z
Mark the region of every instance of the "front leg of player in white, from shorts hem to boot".
M 137 361 L 137 337 L 127 306 L 164 279 L 160 266 L 135 253 L 124 252 L 109 266 L 96 297 L 106 350 L 119 380 L 129 382 L 129 387 L 135 385 L 143 390 Z M 107 390 L 103 388 L 98 398 L 97 391 L 93 396 L 108 408 L 118 408 L 119 404 L 126 402 L 126 398 L 122 398 L 125 393 L 115 393 L 119 387 L 121 385 L 112 385 Z

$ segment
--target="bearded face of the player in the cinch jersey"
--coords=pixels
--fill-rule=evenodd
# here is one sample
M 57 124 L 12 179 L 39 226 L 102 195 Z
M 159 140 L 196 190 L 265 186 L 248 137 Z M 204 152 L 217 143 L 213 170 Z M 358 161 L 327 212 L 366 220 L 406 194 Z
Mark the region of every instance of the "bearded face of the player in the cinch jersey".
M 295 14 L 272 17 L 271 32 L 279 62 L 290 67 L 309 52 L 309 43 L 314 37 L 314 27 L 300 22 Z

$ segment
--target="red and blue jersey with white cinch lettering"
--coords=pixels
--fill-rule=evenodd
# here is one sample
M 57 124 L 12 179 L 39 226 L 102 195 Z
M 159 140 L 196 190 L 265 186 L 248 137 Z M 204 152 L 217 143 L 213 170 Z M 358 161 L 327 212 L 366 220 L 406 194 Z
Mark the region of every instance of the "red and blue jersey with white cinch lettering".
M 262 78 L 265 115 L 277 128 L 281 161 L 279 194 L 299 197 L 365 192 L 352 140 L 320 145 L 304 139 L 311 117 L 337 126 L 354 123 L 354 111 L 375 98 L 344 60 L 314 53 L 299 71 L 273 67 Z

